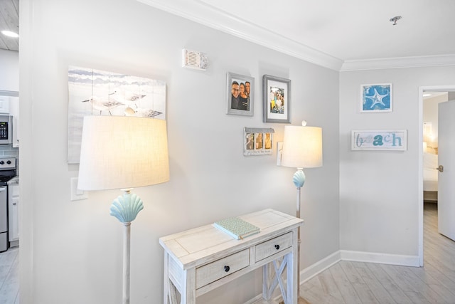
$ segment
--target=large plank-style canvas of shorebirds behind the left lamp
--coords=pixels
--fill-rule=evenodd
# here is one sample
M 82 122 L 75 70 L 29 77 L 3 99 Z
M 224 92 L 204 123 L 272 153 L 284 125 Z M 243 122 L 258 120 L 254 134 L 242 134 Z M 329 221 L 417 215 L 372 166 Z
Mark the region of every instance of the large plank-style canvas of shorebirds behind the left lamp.
M 162 80 L 68 68 L 68 163 L 80 158 L 86 115 L 138 116 L 166 120 L 166 83 Z

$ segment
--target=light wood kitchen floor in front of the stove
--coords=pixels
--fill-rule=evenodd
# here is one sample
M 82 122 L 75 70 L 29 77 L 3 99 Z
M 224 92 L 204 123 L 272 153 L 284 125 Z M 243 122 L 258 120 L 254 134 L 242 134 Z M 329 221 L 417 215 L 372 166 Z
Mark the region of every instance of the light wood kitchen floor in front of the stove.
M 0 253 L 0 303 L 19 304 L 19 248 Z

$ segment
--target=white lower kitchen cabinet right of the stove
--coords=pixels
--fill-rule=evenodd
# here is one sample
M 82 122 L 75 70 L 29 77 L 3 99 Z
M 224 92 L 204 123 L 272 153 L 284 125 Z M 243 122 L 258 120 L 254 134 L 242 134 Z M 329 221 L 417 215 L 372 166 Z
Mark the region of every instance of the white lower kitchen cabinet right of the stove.
M 19 246 L 19 179 L 8 182 L 9 246 Z

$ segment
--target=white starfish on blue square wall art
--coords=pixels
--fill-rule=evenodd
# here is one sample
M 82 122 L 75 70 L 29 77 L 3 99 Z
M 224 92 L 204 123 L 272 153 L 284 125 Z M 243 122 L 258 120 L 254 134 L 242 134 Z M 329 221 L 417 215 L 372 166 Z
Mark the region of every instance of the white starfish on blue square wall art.
M 360 112 L 392 112 L 392 83 L 361 85 Z

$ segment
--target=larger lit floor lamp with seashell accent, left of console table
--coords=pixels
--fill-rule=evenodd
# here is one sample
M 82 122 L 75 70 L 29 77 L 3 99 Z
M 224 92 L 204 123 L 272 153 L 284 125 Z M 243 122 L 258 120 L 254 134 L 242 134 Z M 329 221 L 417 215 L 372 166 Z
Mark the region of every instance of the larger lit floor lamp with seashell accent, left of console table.
M 110 214 L 124 224 L 122 303 L 129 304 L 131 222 L 144 209 L 133 187 L 169 180 L 166 121 L 128 116 L 86 116 L 78 189 L 122 189 Z

